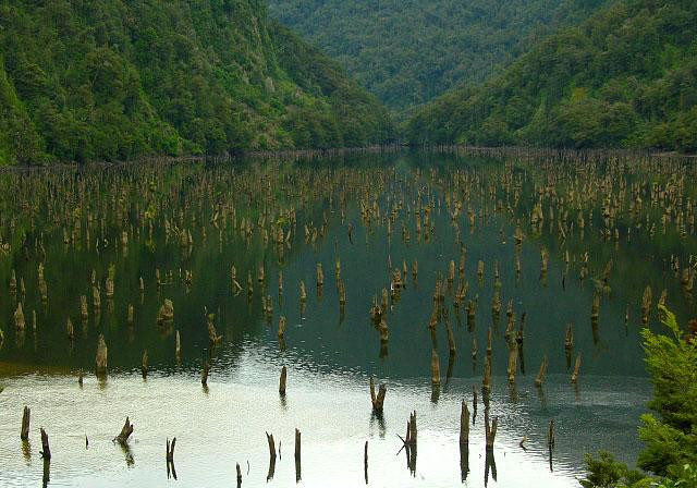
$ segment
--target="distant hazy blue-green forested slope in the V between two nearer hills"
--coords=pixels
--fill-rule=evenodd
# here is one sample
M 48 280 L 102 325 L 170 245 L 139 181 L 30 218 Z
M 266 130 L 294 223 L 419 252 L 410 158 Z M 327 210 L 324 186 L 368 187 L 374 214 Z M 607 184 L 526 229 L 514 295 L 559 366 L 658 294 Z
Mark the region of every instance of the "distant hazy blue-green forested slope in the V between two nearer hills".
M 269 0 L 398 117 L 458 83 L 477 85 L 536 40 L 607 0 Z

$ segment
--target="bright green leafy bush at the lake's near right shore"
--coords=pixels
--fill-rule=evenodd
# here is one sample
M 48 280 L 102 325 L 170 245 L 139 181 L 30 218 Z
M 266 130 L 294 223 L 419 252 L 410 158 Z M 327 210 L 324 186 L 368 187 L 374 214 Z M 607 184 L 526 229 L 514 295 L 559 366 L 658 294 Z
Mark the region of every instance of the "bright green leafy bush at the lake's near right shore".
M 683 335 L 664 306 L 659 305 L 659 313 L 670 335 L 641 332 L 653 383 L 648 406 L 656 415 L 641 416 L 639 437 L 646 447 L 637 464 L 661 480 L 644 477 L 601 452 L 598 460 L 586 456 L 589 474 L 580 481 L 585 488 L 697 488 L 697 338 Z

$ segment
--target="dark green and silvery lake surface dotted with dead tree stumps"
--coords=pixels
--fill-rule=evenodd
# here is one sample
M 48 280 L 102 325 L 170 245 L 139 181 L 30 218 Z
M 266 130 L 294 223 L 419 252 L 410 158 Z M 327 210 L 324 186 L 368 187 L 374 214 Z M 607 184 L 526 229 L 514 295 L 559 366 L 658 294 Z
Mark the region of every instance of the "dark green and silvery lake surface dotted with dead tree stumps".
M 531 228 L 549 169 L 426 154 L 335 162 L 3 174 L 0 184 L 22 192 L 0 198 L 9 245 L 0 283 L 16 282 L 0 301 L 0 485 L 229 486 L 239 464 L 243 486 L 553 487 L 577 486 L 586 452 L 636 459 L 637 419 L 650 396 L 641 294 L 650 284 L 656 301 L 667 289 L 681 319 L 694 314 L 669 267 L 674 256 L 689 263 L 694 242 L 670 228 L 649 239 L 638 227 L 631 245 L 608 241 L 601 217 L 564 239 L 549 222 Z M 559 172 L 559 182 L 576 174 Z M 640 175 L 628 172 L 625 183 Z M 583 178 L 604 181 L 596 167 Z M 622 229 L 636 223 L 623 219 Z M 516 244 L 518 232 L 526 237 Z M 462 273 L 448 280 L 450 261 L 458 268 L 463 256 Z M 388 292 L 395 269 L 403 281 Z M 439 282 L 445 305 L 430 331 Z M 20 303 L 24 330 L 13 327 Z M 384 327 L 371 325 L 376 304 Z M 109 374 L 98 378 L 100 335 Z M 489 353 L 499 434 L 487 454 L 481 396 L 477 410 L 472 402 Z M 547 379 L 537 389 L 543 357 Z M 371 413 L 370 376 L 388 385 L 382 415 Z M 458 443 L 463 399 L 473 413 L 468 449 Z M 28 442 L 19 436 L 24 405 Z M 398 435 L 414 411 L 418 443 L 401 449 Z M 111 440 L 126 416 L 135 430 L 121 447 Z M 50 436 L 50 465 L 38 453 L 39 427 Z

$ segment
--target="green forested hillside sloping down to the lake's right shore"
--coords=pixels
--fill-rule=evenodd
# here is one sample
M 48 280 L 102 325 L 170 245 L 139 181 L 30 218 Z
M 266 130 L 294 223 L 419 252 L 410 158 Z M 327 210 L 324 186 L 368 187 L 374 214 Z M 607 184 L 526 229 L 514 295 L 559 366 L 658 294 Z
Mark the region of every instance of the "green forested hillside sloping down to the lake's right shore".
M 697 2 L 616 0 L 408 121 L 412 143 L 697 150 Z

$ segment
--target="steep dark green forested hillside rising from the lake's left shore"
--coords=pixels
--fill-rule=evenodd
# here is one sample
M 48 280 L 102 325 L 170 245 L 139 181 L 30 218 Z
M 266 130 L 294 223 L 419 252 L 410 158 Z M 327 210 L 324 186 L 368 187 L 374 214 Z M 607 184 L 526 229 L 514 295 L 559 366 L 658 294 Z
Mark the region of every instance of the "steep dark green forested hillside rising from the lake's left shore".
M 393 137 L 262 0 L 0 0 L 0 163 Z

